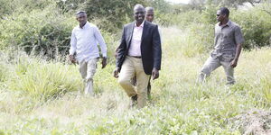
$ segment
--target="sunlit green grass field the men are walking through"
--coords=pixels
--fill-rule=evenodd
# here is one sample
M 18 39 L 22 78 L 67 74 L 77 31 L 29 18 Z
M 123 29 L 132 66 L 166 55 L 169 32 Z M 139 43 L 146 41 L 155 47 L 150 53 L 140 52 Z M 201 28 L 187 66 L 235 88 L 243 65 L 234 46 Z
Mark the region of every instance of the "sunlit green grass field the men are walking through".
M 0 135 L 249 133 L 235 118 L 251 111 L 270 112 L 271 49 L 241 52 L 236 85 L 225 85 L 222 67 L 197 85 L 210 53 L 201 46 L 204 35 L 195 42 L 186 32 L 162 29 L 161 75 L 152 82 L 152 99 L 141 110 L 128 109 L 129 99 L 112 76 L 113 61 L 105 69 L 98 65 L 96 96 L 89 97 L 79 94 L 83 84 L 78 66 L 22 52 L 1 54 Z M 270 121 L 266 125 L 264 131 L 270 130 Z

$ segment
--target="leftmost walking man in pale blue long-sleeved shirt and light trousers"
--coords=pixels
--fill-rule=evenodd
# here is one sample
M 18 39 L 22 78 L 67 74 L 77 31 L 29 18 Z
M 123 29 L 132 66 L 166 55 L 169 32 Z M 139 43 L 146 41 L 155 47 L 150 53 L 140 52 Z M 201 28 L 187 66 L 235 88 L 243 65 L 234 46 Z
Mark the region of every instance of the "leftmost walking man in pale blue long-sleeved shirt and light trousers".
M 107 66 L 107 45 L 98 27 L 87 21 L 87 14 L 76 14 L 79 25 L 71 33 L 70 61 L 79 63 L 79 72 L 85 82 L 85 94 L 93 95 L 93 76 L 96 73 L 99 58 L 98 44 L 102 54 L 102 68 Z

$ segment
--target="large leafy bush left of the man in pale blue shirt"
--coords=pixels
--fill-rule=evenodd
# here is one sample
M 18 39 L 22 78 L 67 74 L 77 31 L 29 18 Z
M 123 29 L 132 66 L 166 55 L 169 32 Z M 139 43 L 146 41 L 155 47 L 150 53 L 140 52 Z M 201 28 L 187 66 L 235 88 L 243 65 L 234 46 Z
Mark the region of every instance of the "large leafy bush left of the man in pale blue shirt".
M 75 20 L 59 14 L 57 9 L 33 10 L 30 13 L 15 13 L 1 21 L 0 45 L 23 48 L 27 53 L 42 53 L 53 57 L 67 51 L 70 31 Z

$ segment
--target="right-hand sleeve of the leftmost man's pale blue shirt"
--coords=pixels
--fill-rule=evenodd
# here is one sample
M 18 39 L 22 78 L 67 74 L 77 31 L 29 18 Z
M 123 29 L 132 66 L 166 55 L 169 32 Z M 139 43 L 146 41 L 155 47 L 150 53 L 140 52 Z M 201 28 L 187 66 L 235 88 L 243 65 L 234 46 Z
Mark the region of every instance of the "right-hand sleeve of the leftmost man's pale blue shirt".
M 98 30 L 98 27 L 94 27 L 94 35 L 96 40 L 98 40 L 98 44 L 100 46 L 101 49 L 101 53 L 103 55 L 103 57 L 107 57 L 107 44 L 104 40 L 104 38 L 102 37 L 100 31 Z

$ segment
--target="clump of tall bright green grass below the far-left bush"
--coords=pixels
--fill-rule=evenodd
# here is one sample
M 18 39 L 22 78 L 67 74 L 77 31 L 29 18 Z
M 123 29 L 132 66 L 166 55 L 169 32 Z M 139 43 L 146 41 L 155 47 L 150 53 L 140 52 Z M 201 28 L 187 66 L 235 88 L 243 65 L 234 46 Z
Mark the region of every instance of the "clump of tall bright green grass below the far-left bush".
M 33 99 L 47 100 L 82 87 L 76 67 L 61 62 L 23 55 L 1 66 L 1 71 L 6 70 L 1 78 L 7 88 L 23 91 Z

